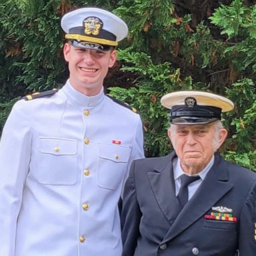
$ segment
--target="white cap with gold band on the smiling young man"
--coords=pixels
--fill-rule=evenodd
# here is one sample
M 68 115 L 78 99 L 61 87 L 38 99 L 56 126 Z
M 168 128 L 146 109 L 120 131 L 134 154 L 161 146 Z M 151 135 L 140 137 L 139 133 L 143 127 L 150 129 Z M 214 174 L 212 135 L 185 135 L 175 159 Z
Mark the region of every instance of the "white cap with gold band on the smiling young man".
M 61 19 L 61 27 L 71 45 L 96 51 L 109 51 L 128 33 L 122 19 L 95 7 L 83 7 L 66 13 Z

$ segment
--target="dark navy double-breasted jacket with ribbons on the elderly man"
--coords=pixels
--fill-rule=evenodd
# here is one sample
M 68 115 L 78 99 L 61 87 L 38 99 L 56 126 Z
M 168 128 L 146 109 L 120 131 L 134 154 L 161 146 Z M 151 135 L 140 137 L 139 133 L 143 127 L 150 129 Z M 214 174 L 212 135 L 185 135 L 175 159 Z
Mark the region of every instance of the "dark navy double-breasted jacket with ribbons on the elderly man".
M 234 256 L 238 250 L 240 256 L 255 256 L 256 174 L 217 153 L 199 189 L 177 213 L 174 157 L 175 152 L 133 162 L 123 194 L 122 256 Z M 229 220 L 209 219 L 225 214 Z

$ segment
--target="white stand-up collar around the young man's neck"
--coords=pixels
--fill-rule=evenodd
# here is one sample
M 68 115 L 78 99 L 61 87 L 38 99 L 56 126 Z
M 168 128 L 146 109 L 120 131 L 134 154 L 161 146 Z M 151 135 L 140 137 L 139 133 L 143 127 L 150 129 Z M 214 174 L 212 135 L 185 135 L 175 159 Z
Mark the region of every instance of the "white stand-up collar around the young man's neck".
M 79 91 L 75 90 L 72 85 L 69 83 L 69 80 L 63 86 L 63 91 L 67 95 L 67 98 L 78 105 L 82 105 L 84 107 L 94 107 L 103 101 L 105 94 L 103 92 L 103 87 L 99 94 L 95 96 L 86 96 L 83 93 L 79 93 Z

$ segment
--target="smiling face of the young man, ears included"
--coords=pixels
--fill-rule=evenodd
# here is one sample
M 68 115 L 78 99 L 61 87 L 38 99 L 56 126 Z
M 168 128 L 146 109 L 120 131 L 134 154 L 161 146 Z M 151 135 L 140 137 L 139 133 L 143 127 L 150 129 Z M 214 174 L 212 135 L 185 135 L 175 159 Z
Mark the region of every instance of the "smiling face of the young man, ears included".
M 103 86 L 103 80 L 109 67 L 113 67 L 117 51 L 95 51 L 64 45 L 64 57 L 69 63 L 69 81 L 79 92 L 93 96 L 97 95 Z

